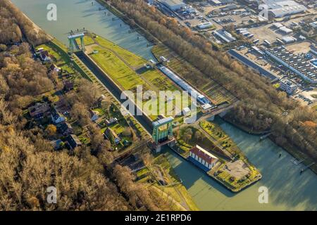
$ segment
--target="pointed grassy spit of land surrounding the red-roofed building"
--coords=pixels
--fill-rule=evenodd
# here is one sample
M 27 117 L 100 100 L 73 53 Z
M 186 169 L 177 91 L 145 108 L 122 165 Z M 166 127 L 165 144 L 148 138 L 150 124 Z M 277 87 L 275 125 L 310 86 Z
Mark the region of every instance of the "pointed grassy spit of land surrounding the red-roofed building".
M 204 120 L 199 122 L 199 126 L 183 125 L 175 131 L 175 138 L 176 145 L 172 148 L 175 153 L 232 193 L 238 193 L 262 178 L 259 170 L 217 124 Z M 218 162 L 211 169 L 189 156 L 189 151 L 197 145 L 218 158 Z

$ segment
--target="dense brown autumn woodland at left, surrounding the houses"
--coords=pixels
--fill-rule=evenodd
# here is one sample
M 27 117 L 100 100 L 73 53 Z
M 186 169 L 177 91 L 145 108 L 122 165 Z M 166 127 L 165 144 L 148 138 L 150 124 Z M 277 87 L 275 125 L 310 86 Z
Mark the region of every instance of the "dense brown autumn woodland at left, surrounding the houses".
M 11 1 L 0 2 L 0 20 L 0 210 L 170 210 L 128 167 L 111 164 L 107 143 L 85 114 L 97 98 L 91 82 L 81 79 L 67 96 L 71 115 L 91 127 L 89 146 L 56 151 L 53 126 L 30 126 L 27 107 L 58 89 L 56 77 L 32 58 L 31 45 L 47 41 L 46 34 Z M 56 204 L 46 201 L 49 186 L 58 190 Z

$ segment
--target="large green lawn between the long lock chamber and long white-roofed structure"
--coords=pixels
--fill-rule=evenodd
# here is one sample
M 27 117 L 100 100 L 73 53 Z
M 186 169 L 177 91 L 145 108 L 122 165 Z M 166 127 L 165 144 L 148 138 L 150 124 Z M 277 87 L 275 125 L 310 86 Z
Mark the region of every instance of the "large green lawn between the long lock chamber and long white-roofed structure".
M 155 91 L 156 94 L 158 91 L 180 91 L 178 86 L 159 70 L 145 68 L 144 65 L 148 62 L 144 58 L 102 37 L 94 36 L 93 39 L 95 44 L 87 45 L 89 56 L 121 89 L 135 93 L 137 86 L 142 85 L 143 93 L 145 91 Z M 149 96 L 152 95 L 149 94 Z M 176 102 L 182 102 L 181 99 L 182 95 L 179 92 L 173 98 L 166 99 L 163 104 L 159 104 L 159 101 L 152 102 L 147 98 L 139 99 L 137 103 L 142 106 L 144 113 L 149 115 L 151 120 L 155 120 L 157 115 L 161 114 L 175 117 L 175 113 L 184 108 L 176 104 Z M 190 104 L 190 101 L 188 102 Z M 181 119 L 182 117 L 178 117 L 177 120 Z

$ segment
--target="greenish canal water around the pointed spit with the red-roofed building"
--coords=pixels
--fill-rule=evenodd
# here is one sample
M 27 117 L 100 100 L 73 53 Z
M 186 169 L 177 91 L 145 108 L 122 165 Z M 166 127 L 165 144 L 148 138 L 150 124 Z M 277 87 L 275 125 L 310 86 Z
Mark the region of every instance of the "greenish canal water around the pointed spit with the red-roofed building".
M 300 175 L 303 165 L 294 165 L 292 156 L 272 141 L 260 142 L 259 136 L 247 134 L 219 118 L 216 122 L 260 169 L 263 179 L 234 194 L 167 150 L 168 160 L 201 210 L 317 210 L 317 178 L 313 172 L 307 170 Z M 260 186 L 268 187 L 268 204 L 258 201 Z

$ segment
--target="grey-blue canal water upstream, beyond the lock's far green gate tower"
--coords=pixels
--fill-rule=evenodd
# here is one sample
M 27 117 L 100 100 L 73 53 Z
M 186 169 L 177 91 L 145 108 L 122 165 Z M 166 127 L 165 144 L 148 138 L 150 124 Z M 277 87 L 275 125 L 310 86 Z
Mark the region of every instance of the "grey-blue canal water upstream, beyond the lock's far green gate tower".
M 99 3 L 92 0 L 11 0 L 39 27 L 56 39 L 68 45 L 68 32 L 85 28 L 89 32 L 105 37 L 106 39 L 123 46 L 147 60 L 153 59 L 149 42 L 137 32 L 129 33 L 130 27 L 113 13 L 103 9 Z M 94 5 L 92 6 L 92 2 Z M 57 20 L 47 20 L 47 6 L 55 4 Z M 113 20 L 115 18 L 116 20 Z M 138 39 L 139 36 L 139 39 Z

